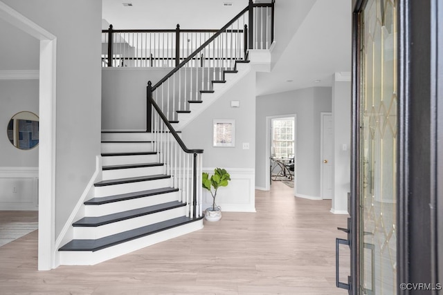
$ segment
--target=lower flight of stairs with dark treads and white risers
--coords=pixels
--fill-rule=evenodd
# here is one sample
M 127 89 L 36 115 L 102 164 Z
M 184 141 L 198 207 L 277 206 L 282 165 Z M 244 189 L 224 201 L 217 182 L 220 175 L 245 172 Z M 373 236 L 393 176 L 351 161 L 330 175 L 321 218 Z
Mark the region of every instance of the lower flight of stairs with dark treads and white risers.
M 102 181 L 60 247 L 62 265 L 94 265 L 203 227 L 159 162 L 151 133 L 102 133 Z

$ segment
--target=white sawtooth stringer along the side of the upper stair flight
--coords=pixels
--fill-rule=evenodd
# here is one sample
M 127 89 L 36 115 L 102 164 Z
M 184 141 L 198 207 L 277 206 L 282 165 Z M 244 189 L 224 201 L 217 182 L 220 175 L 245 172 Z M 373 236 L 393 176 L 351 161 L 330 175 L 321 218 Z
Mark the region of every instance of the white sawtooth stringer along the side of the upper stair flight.
M 231 87 L 233 87 L 237 82 L 239 82 L 244 76 L 246 76 L 251 71 L 251 65 L 246 63 L 238 63 L 236 66 L 237 73 L 225 73 L 225 83 L 222 86 L 217 86 L 217 91 L 214 93 L 202 93 L 200 104 L 190 104 L 191 113 L 179 113 L 178 121 L 179 123 L 174 124 L 174 129 L 181 131 L 185 126 L 187 126 L 192 120 L 198 117 L 206 108 L 213 104 L 219 97 L 224 95 Z

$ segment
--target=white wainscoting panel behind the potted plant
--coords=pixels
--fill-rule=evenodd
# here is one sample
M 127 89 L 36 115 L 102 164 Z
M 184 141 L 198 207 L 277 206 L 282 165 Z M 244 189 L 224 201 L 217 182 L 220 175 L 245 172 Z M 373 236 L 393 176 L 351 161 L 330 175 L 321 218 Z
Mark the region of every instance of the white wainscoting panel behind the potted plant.
M 203 168 L 203 171 L 214 174 L 215 168 Z M 215 202 L 222 211 L 255 212 L 255 169 L 225 168 L 230 175 L 228 187 L 217 191 Z M 203 190 L 203 210 L 212 206 L 213 197 Z

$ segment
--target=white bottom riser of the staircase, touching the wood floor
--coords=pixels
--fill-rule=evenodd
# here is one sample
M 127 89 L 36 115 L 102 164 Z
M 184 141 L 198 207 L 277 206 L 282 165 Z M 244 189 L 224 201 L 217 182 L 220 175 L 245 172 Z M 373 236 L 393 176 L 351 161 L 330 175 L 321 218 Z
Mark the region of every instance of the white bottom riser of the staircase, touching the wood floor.
M 192 231 L 197 231 L 202 228 L 203 220 L 201 219 L 187 223 L 186 225 L 181 225 L 180 227 L 173 227 L 165 231 L 159 231 L 155 234 L 150 234 L 149 236 L 136 238 L 98 251 L 60 251 L 60 264 L 96 265 L 111 258 L 116 258 L 131 253 L 132 251 L 143 249 L 159 242 L 164 242 L 165 240 L 190 234 Z

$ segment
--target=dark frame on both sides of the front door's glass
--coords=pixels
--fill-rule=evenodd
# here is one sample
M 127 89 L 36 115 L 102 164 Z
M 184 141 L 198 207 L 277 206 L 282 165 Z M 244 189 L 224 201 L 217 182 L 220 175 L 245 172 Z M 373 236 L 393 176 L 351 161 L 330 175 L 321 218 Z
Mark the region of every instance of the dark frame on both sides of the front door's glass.
M 357 32 L 364 2 L 352 0 L 350 294 L 359 294 L 361 276 Z M 439 0 L 398 0 L 397 294 L 409 294 L 401 284 L 443 282 L 442 15 Z

